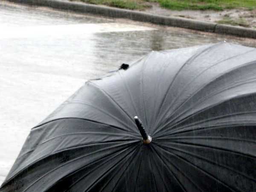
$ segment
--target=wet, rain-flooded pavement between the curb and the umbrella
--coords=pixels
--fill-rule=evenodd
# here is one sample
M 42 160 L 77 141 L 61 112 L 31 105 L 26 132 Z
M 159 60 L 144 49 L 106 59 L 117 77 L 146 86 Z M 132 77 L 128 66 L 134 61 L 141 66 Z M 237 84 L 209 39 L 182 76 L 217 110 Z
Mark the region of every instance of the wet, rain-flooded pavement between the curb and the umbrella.
M 29 130 L 87 79 L 151 50 L 252 39 L 0 2 L 0 183 Z

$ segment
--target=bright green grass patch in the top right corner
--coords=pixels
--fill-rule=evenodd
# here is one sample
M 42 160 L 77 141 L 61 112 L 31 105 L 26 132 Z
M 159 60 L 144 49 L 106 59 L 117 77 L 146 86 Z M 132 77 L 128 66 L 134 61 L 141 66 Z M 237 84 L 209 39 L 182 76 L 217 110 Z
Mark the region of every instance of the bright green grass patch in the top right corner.
M 158 0 L 160 6 L 172 10 L 256 9 L 256 0 Z

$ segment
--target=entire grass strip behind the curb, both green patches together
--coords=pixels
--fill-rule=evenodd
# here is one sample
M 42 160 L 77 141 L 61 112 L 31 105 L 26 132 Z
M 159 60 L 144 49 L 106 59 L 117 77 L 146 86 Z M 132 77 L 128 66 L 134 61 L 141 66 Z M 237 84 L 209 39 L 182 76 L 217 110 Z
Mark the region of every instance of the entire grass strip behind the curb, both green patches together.
M 256 0 L 79 0 L 85 3 L 143 10 L 158 2 L 160 6 L 172 10 L 216 10 L 245 8 L 256 9 Z

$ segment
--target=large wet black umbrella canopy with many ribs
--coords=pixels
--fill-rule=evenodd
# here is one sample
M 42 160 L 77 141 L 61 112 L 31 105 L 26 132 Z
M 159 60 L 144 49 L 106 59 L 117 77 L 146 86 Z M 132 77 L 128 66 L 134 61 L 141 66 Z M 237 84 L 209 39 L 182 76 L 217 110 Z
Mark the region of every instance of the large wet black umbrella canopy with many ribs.
M 256 49 L 151 52 L 32 128 L 0 191 L 255 192 L 255 138 Z

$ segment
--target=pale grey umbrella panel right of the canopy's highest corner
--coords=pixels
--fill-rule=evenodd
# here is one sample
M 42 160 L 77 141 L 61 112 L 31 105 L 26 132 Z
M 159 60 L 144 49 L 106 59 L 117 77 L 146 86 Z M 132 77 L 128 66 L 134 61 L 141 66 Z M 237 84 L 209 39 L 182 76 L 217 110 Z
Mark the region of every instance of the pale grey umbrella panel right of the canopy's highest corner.
M 230 48 L 226 52 L 233 54 L 220 54 L 223 52 L 223 47 L 226 46 Z M 212 52 L 215 53 L 215 57 L 213 57 Z M 226 73 L 244 66 L 247 62 L 256 61 L 255 53 L 255 49 L 252 48 L 241 50 L 240 46 L 230 47 L 226 44 L 215 44 L 210 49 L 204 49 L 196 57 L 189 59 L 169 86 L 166 99 L 162 99 L 162 109 L 158 119 L 156 119 L 157 128 L 166 119 L 171 119 L 171 117 L 187 111 L 188 107 L 201 106 L 203 99 L 208 99 L 206 103 L 212 102 L 212 98 L 210 98 L 210 96 L 214 96 L 212 92 L 216 93 L 224 86 L 233 83 L 233 81 L 229 81 L 231 78 L 228 79 L 229 74 L 226 76 Z M 220 79 L 222 81 L 218 81 Z M 185 117 L 181 116 L 181 118 Z

